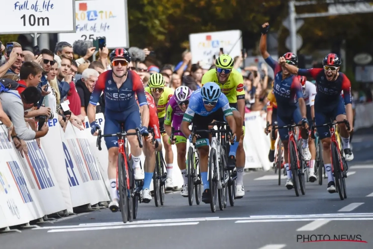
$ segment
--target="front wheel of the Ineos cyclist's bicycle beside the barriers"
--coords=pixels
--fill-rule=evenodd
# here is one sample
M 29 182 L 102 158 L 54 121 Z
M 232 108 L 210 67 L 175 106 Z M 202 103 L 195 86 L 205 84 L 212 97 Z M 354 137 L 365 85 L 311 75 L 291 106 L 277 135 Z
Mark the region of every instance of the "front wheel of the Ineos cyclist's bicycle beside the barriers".
M 118 189 L 119 189 L 119 210 L 122 214 L 123 223 L 128 221 L 128 190 L 125 162 L 122 153 L 118 153 Z

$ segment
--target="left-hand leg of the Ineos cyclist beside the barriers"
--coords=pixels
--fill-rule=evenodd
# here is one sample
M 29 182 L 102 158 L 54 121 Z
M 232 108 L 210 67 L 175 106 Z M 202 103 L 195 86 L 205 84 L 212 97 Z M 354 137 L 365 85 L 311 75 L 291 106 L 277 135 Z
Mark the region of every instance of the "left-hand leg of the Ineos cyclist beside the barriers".
M 112 115 L 106 115 L 105 126 L 103 127 L 104 134 L 114 134 L 120 132 L 120 124 L 112 119 Z M 116 167 L 118 161 L 118 139 L 117 137 L 104 137 L 106 148 L 108 151 L 108 166 L 107 166 L 107 176 L 110 182 L 110 196 L 111 202 L 109 208 L 116 206 L 118 207 L 119 194 L 116 189 Z M 110 209 L 112 210 L 112 209 Z

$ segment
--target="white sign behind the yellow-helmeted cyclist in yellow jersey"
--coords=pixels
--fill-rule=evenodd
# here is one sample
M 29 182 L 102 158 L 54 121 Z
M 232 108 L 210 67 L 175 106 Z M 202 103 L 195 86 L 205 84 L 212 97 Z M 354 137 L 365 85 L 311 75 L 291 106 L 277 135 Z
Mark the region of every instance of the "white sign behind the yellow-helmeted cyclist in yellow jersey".
M 241 30 L 228 30 L 189 35 L 191 62 L 214 62 L 213 56 L 219 56 L 220 48 L 232 57 L 241 55 L 242 33 Z

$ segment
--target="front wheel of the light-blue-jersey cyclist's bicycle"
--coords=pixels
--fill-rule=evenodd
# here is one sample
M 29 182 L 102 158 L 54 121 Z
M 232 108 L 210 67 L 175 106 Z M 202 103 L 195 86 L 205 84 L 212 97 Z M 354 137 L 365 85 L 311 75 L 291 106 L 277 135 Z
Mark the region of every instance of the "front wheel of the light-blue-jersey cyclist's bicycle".
M 216 161 L 216 150 L 211 148 L 209 163 L 208 163 L 208 182 L 210 185 L 210 208 L 211 212 L 216 211 L 216 195 L 217 195 L 217 161 Z

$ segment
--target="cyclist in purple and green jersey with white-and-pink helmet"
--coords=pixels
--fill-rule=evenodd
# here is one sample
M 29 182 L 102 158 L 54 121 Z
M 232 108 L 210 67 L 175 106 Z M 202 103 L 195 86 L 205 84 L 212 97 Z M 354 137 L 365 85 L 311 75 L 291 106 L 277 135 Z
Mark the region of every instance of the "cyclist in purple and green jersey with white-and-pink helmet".
M 183 116 L 185 111 L 187 111 L 189 105 L 189 99 L 191 95 L 191 90 L 186 86 L 178 87 L 175 90 L 174 95 L 170 99 L 169 103 L 166 106 L 166 118 L 165 118 L 165 131 L 171 138 L 172 127 L 175 127 L 175 130 L 180 130 L 180 125 L 183 121 Z M 171 126 L 172 125 L 172 126 Z M 182 172 L 184 179 L 183 188 L 181 195 L 184 197 L 188 196 L 188 178 L 187 178 L 187 164 L 186 164 L 186 155 L 187 155 L 187 137 L 182 132 L 176 132 L 174 135 L 174 140 L 171 141 L 169 138 L 170 144 L 176 144 L 178 151 L 178 165 Z

